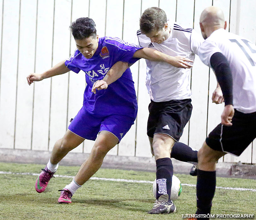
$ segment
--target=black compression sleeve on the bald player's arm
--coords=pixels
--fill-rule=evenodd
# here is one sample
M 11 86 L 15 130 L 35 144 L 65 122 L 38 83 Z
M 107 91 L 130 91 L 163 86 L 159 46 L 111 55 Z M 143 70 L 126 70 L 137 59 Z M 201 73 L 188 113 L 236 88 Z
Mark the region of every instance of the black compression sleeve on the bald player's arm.
M 221 87 L 225 105 L 233 105 L 233 80 L 227 58 L 217 52 L 211 56 L 210 63 Z

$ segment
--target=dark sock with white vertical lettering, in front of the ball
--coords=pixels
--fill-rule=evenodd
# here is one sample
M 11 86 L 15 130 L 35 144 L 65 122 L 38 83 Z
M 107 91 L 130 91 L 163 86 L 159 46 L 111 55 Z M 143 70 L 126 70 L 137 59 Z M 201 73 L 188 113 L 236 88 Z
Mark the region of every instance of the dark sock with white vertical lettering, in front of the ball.
M 157 164 L 157 173 L 156 173 L 157 200 L 161 195 L 167 194 L 169 196 L 169 201 L 170 201 L 171 182 L 172 182 L 172 175 L 173 175 L 173 166 L 172 166 L 171 159 L 168 157 L 160 158 L 156 160 L 156 164 Z

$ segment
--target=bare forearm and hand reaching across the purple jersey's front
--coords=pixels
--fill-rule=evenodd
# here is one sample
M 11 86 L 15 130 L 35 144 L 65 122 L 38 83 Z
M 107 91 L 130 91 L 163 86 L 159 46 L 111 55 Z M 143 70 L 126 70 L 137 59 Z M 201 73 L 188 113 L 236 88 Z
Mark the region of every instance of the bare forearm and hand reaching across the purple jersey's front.
M 118 80 L 128 67 L 128 63 L 121 61 L 116 62 L 102 80 L 97 80 L 93 83 L 92 92 L 95 94 L 96 90 L 108 88 L 108 85 Z

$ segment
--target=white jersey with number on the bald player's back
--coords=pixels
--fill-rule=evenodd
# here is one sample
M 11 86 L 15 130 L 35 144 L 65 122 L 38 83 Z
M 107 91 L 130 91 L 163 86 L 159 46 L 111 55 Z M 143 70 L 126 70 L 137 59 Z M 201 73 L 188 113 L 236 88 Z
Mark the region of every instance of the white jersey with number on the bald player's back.
M 231 68 L 234 108 L 242 113 L 256 112 L 256 46 L 221 28 L 202 43 L 199 57 L 211 67 L 210 59 L 216 52 L 227 58 Z

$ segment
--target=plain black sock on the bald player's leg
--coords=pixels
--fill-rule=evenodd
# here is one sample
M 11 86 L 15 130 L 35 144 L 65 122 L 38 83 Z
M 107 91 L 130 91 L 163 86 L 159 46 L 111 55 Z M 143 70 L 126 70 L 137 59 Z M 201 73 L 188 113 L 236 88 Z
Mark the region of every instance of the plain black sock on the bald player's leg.
M 197 170 L 196 198 L 197 212 L 196 214 L 210 214 L 211 201 L 213 199 L 216 187 L 216 171 Z M 203 218 L 209 219 L 209 218 Z

